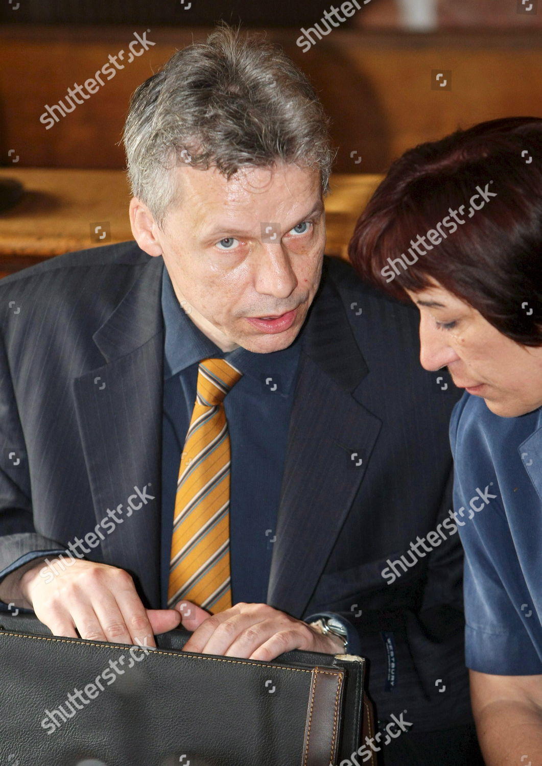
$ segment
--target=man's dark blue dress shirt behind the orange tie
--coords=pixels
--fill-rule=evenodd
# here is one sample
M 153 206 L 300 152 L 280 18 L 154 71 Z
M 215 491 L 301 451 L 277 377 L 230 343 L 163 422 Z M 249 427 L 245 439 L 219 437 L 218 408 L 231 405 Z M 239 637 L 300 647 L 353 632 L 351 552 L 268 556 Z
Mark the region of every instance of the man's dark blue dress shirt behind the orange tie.
M 198 364 L 224 358 L 244 373 L 224 400 L 232 450 L 230 566 L 232 603 L 267 601 L 288 426 L 301 349 L 300 332 L 282 351 L 222 352 L 189 319 L 164 267 L 165 329 L 162 463 L 162 606 L 167 606 L 176 483 L 194 408 Z M 267 381 L 267 382 L 266 382 Z

